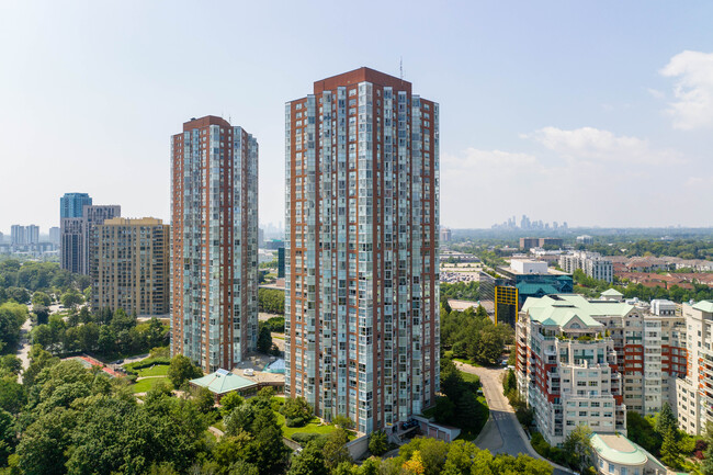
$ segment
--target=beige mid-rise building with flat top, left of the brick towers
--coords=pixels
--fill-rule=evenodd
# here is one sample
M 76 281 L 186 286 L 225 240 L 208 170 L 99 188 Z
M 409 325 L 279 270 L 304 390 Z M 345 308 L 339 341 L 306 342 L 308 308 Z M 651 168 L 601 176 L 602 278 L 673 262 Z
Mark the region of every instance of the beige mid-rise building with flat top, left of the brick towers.
M 123 308 L 138 316 L 169 313 L 169 228 L 150 217 L 115 217 L 95 225 L 91 252 L 94 309 Z

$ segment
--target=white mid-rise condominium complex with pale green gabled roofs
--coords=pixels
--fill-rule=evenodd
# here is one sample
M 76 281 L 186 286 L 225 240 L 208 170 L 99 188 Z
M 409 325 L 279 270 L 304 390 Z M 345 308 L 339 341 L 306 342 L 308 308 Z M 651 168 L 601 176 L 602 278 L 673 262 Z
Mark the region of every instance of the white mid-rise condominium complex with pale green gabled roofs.
M 649 312 L 613 290 L 592 301 L 528 298 L 516 326 L 518 387 L 550 443 L 562 443 L 580 422 L 596 432 L 621 431 L 626 410 L 650 415 L 666 402 L 676 407 L 677 382 L 687 374 L 686 326 L 676 307 L 655 301 Z M 613 398 L 615 420 L 582 397 Z M 604 402 L 593 400 L 593 408 Z

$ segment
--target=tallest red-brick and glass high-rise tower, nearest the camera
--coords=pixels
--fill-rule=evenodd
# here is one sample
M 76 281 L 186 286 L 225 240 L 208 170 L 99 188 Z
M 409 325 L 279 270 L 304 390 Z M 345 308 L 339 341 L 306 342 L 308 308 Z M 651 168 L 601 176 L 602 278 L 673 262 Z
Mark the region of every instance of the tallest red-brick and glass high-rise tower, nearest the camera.
M 285 392 L 372 432 L 439 391 L 439 105 L 361 68 L 286 123 Z

